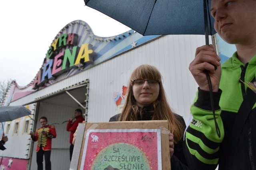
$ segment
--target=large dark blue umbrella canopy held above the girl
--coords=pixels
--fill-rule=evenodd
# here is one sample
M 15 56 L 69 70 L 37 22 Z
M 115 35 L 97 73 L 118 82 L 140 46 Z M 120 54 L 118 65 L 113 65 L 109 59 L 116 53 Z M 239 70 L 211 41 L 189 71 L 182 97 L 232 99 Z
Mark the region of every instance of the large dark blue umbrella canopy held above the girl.
M 211 0 L 84 0 L 142 35 L 213 35 Z

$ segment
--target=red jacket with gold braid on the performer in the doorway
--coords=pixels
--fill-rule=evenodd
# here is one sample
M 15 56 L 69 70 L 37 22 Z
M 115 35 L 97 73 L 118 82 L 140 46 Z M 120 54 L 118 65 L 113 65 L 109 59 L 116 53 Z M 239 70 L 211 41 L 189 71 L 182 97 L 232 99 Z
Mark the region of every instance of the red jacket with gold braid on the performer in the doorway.
M 42 131 L 48 132 L 48 135 L 42 135 Z M 43 150 L 51 150 L 52 149 L 52 138 L 56 138 L 55 126 L 46 125 L 44 127 L 40 127 L 36 129 L 36 134 L 32 137 L 34 142 L 38 141 L 36 152 L 40 149 L 42 145 Z

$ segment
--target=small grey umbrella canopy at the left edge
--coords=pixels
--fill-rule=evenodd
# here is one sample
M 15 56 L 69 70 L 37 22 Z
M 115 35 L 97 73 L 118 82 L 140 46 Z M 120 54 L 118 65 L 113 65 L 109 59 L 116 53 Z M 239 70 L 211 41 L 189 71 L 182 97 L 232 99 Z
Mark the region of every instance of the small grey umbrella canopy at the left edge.
M 0 106 L 0 122 L 12 121 L 27 115 L 31 115 L 31 111 L 24 106 Z

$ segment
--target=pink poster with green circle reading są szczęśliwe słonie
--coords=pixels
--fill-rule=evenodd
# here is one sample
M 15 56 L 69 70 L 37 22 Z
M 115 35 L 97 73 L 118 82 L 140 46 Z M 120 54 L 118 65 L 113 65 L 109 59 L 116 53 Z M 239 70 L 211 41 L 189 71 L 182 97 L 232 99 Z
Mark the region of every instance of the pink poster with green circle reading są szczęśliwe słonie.
M 88 129 L 80 170 L 161 170 L 160 129 Z

